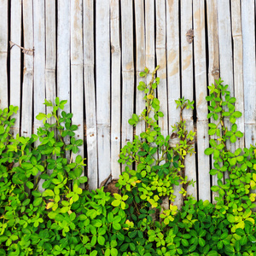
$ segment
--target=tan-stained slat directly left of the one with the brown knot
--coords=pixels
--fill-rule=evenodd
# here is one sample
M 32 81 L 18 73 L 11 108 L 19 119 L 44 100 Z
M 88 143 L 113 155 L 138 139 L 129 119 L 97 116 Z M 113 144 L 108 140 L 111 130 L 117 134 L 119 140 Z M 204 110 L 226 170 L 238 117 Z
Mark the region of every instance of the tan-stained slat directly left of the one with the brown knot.
M 166 1 L 166 50 L 167 50 L 167 86 L 168 86 L 168 121 L 169 134 L 172 135 L 172 126 L 179 120 L 179 109 L 176 100 L 180 97 L 180 58 L 179 58 L 179 4 L 177 1 Z M 172 147 L 178 143 L 178 138 L 171 140 Z M 183 206 L 183 196 L 178 193 L 182 185 L 174 186 L 175 205 L 178 209 Z

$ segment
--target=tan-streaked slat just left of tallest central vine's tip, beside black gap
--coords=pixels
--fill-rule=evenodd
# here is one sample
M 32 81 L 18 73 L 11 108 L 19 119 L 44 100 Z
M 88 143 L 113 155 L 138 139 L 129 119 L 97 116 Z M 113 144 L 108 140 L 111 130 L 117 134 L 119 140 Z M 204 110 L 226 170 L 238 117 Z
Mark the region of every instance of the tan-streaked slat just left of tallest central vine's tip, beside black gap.
M 145 49 L 145 17 L 144 17 L 144 1 L 135 1 L 135 26 L 136 26 L 136 85 L 140 81 L 146 83 L 146 79 L 140 77 L 140 73 L 144 71 L 146 67 L 146 49 Z M 144 92 L 137 90 L 136 86 L 136 113 L 139 115 L 145 108 L 145 102 L 143 100 Z M 145 123 L 139 122 L 136 125 L 136 134 L 140 135 L 145 131 Z

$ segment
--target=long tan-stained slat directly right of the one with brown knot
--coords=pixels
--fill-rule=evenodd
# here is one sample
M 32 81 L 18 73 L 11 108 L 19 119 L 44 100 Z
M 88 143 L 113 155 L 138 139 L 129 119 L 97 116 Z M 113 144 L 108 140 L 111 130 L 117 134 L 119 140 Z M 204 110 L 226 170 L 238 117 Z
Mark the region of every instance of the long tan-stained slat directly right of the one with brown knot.
M 210 159 L 204 154 L 209 147 L 207 119 L 207 53 L 205 39 L 205 4 L 203 1 L 193 1 L 194 21 L 194 56 L 195 56 L 195 98 L 196 98 L 196 128 L 197 128 L 197 171 L 198 199 L 211 201 Z

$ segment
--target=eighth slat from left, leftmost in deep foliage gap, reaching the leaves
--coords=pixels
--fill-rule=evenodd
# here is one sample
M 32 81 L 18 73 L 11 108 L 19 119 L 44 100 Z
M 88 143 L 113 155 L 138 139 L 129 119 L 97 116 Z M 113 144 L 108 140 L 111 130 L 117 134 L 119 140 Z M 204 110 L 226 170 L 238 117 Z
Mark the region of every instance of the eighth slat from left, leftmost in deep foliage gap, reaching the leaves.
M 84 0 L 84 103 L 86 117 L 87 177 L 89 189 L 98 186 L 96 91 L 94 58 L 94 0 Z

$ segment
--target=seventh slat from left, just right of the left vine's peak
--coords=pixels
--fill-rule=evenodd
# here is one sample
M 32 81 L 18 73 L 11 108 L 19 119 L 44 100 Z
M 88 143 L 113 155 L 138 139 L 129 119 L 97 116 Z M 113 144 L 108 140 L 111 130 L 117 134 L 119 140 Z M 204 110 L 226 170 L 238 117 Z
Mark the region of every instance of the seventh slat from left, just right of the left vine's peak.
M 72 122 L 78 125 L 76 139 L 84 139 L 84 84 L 83 84 L 83 2 L 71 1 L 71 109 Z M 84 156 L 84 145 L 79 147 L 79 155 Z M 73 161 L 78 154 L 73 154 Z M 84 173 L 82 174 L 84 176 Z

